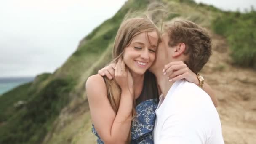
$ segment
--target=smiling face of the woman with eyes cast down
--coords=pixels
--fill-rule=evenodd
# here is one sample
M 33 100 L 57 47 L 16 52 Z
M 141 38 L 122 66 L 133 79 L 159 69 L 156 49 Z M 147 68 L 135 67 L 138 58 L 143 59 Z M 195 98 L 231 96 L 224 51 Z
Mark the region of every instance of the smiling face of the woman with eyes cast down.
M 132 73 L 144 75 L 155 61 L 158 36 L 156 31 L 143 32 L 133 38 L 125 48 L 123 60 Z

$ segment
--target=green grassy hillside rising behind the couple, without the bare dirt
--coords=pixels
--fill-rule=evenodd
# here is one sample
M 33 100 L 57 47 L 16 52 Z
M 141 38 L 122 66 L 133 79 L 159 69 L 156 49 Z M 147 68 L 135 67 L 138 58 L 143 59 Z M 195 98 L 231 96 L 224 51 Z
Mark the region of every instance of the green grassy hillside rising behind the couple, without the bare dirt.
M 256 11 L 225 12 L 193 0 L 157 0 L 170 14 L 207 27 L 227 39 L 233 64 L 256 69 Z M 0 144 L 69 144 L 93 141 L 85 96 L 86 79 L 111 60 L 112 44 L 128 12 L 145 11 L 153 0 L 128 0 L 80 41 L 53 74 L 41 74 L 0 97 Z M 22 101 L 23 103 L 18 103 Z M 90 140 L 88 140 L 90 139 Z

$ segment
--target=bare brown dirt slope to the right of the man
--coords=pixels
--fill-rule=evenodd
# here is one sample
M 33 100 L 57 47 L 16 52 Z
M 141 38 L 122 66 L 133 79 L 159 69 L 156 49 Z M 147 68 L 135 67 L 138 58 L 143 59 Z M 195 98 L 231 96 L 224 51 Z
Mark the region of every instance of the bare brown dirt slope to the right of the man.
M 201 73 L 219 100 L 225 144 L 256 144 L 256 71 L 234 67 L 227 41 L 211 36 L 213 55 Z

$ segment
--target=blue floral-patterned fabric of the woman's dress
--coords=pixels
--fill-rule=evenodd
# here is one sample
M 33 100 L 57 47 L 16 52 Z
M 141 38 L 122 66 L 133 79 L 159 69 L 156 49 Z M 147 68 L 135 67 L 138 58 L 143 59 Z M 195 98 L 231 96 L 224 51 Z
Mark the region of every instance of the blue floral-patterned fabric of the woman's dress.
M 149 99 L 136 106 L 136 117 L 131 126 L 131 144 L 154 144 L 152 132 L 156 108 L 157 99 Z M 98 137 L 97 144 L 104 144 L 94 126 L 92 131 Z

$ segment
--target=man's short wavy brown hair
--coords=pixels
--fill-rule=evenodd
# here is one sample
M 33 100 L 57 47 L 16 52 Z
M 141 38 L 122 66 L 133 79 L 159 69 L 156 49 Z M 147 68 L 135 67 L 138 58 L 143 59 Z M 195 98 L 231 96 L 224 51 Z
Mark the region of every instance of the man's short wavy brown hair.
M 165 24 L 165 31 L 170 38 L 169 46 L 185 43 L 184 54 L 188 55 L 185 63 L 189 69 L 198 73 L 211 56 L 211 38 L 206 30 L 192 21 L 174 20 Z

